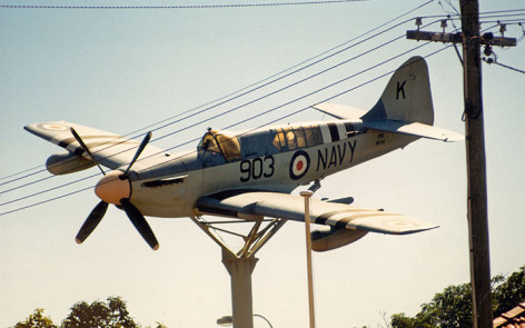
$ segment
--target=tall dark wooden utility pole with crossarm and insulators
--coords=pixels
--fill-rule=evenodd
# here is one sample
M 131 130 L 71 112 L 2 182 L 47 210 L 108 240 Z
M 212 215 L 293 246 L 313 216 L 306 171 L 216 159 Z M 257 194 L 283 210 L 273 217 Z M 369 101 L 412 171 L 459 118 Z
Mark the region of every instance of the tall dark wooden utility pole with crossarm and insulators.
M 516 46 L 516 39 L 479 34 L 477 0 L 459 0 L 462 33 L 407 31 L 408 39 L 463 44 L 465 141 L 467 156 L 467 217 L 469 235 L 473 322 L 475 328 L 493 327 L 491 260 L 488 243 L 487 183 L 483 123 L 481 46 Z M 419 20 L 420 23 L 420 20 Z M 442 27 L 446 27 L 442 21 Z

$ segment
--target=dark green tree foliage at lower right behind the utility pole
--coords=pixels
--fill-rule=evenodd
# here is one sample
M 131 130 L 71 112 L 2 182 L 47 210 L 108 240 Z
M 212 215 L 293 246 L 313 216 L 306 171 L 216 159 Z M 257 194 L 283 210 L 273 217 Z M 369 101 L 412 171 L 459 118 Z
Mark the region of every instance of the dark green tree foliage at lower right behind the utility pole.
M 493 282 L 494 317 L 525 300 L 525 266 L 508 278 L 496 276 Z M 393 328 L 463 328 L 473 327 L 470 284 L 448 286 L 424 304 L 415 317 L 392 316 Z

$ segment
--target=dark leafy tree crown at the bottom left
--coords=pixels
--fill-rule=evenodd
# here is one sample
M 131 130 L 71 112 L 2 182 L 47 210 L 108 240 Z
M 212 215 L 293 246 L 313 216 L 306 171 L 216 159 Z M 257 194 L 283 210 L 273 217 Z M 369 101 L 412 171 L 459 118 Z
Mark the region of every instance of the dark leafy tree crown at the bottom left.
M 62 321 L 62 328 L 139 328 L 126 309 L 120 297 L 109 297 L 108 302 L 93 301 L 88 305 L 80 301 L 71 308 L 69 316 Z

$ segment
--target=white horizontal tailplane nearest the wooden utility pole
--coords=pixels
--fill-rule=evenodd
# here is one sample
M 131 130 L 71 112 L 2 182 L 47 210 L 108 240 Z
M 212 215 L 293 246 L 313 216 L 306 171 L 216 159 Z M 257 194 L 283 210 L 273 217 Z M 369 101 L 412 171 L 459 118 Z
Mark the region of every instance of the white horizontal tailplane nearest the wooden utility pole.
M 394 120 L 372 120 L 363 122 L 364 126 L 368 129 L 386 131 L 386 132 L 394 132 L 394 133 L 403 133 L 409 135 L 419 138 L 427 138 L 434 140 L 442 140 L 442 141 L 462 141 L 465 138 L 463 135 L 457 132 L 418 123 L 418 122 L 403 122 L 403 121 L 394 121 Z

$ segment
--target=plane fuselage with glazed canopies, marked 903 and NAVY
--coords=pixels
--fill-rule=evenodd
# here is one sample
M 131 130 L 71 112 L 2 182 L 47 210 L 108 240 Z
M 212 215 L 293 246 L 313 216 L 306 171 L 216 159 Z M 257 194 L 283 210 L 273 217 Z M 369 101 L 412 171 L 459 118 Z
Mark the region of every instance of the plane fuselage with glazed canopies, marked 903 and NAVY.
M 236 189 L 290 192 L 416 139 L 348 120 L 209 131 L 197 150 L 155 159 L 150 169 L 137 171 L 131 201 L 147 216 L 201 215 L 195 203 L 202 196 Z

